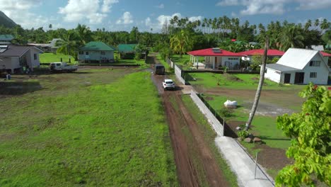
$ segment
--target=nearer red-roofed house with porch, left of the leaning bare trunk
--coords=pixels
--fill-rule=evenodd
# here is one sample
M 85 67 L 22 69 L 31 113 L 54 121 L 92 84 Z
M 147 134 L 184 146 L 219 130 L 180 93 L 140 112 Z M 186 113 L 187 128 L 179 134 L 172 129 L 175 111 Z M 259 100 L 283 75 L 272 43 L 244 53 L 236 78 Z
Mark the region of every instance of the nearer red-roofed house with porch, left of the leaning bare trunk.
M 241 55 L 220 48 L 208 48 L 204 50 L 194 50 L 187 52 L 190 55 L 190 62 L 193 62 L 194 67 L 201 67 L 204 64 L 205 68 L 218 69 L 219 67 L 227 67 L 228 69 L 239 69 Z M 204 57 L 204 62 L 198 62 L 199 57 Z

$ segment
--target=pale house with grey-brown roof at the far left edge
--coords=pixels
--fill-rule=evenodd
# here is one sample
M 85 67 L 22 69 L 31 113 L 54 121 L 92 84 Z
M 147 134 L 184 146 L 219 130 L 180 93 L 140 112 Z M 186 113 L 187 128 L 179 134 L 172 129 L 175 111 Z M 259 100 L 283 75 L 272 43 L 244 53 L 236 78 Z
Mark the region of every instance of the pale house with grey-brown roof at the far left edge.
M 0 45 L 0 69 L 10 70 L 13 74 L 28 66 L 31 71 L 40 66 L 39 54 L 42 50 L 34 46 Z

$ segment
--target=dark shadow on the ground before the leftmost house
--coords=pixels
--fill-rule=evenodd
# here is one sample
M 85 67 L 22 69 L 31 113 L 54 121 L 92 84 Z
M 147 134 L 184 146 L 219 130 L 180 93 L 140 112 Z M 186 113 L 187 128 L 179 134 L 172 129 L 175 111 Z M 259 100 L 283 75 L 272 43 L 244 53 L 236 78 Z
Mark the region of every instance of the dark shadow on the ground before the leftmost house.
M 37 81 L 0 81 L 0 95 L 22 95 L 39 91 L 42 86 Z

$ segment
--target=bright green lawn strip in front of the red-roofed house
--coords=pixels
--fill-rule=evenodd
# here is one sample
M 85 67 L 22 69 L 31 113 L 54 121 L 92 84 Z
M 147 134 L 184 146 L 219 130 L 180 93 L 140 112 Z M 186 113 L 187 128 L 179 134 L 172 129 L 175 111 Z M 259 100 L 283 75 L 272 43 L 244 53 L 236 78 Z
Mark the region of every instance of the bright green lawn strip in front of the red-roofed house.
M 226 88 L 226 89 L 257 89 L 260 75 L 258 74 L 213 74 L 213 73 L 190 73 L 192 85 L 203 85 L 207 89 Z M 274 81 L 265 79 L 263 89 L 297 89 L 298 85 L 279 85 Z

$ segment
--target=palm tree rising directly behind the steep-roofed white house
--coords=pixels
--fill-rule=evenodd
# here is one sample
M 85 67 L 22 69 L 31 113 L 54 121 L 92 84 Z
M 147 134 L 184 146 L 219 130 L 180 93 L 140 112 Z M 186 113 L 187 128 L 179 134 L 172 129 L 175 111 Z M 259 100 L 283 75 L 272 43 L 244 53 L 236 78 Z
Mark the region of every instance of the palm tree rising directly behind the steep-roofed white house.
M 287 26 L 279 33 L 277 41 L 281 45 L 280 50 L 286 51 L 289 47 L 304 47 L 301 30 L 297 26 Z

